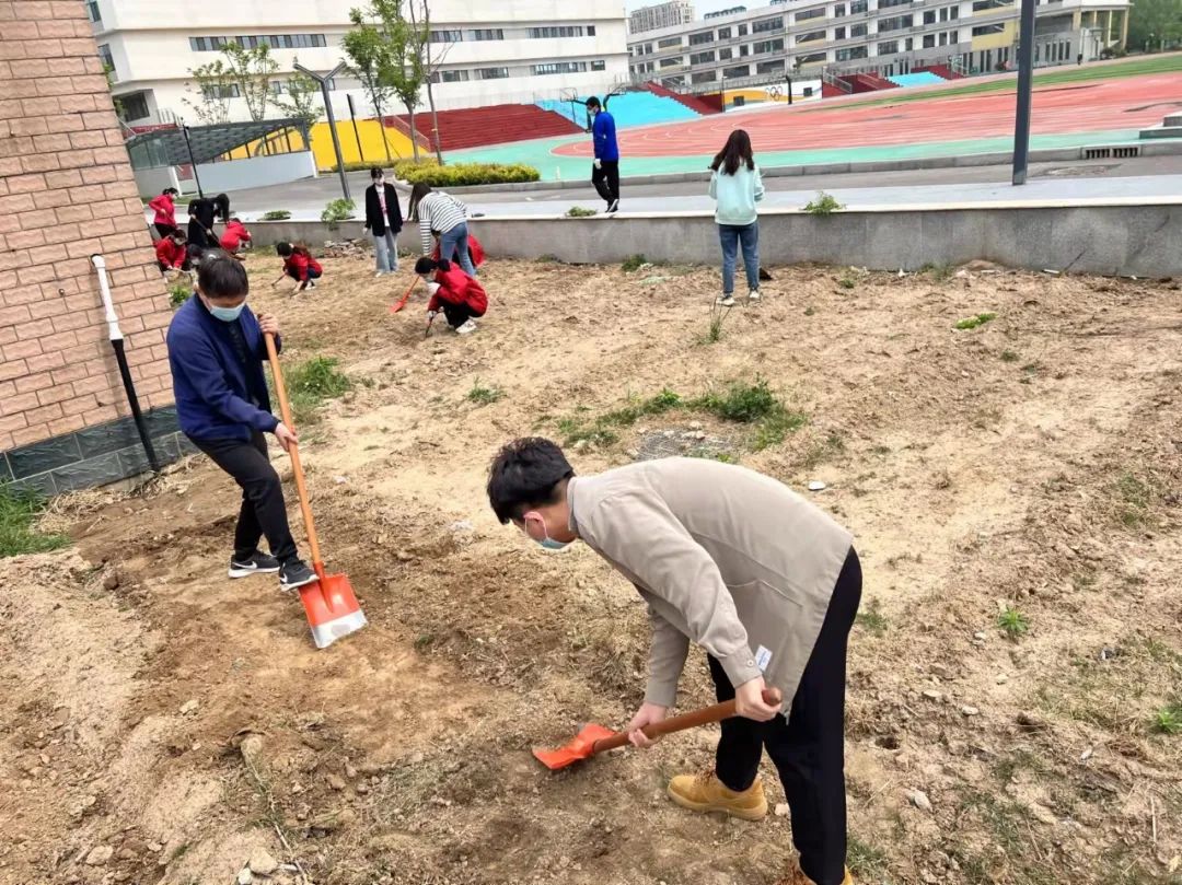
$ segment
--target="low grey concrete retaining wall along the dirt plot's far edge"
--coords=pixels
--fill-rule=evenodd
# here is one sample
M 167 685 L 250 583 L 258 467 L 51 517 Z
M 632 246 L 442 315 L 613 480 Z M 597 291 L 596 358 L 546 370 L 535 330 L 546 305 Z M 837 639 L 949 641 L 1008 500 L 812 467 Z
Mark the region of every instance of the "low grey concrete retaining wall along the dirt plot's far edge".
M 913 207 L 842 212 L 818 217 L 797 210 L 760 217 L 765 265 L 814 261 L 873 269 L 917 269 L 986 259 L 1008 267 L 1135 276 L 1182 275 L 1182 202 L 1162 204 Z M 488 216 L 472 229 L 495 258 L 552 255 L 570 263 L 615 263 L 629 255 L 713 263 L 717 228 L 709 213 L 590 219 Z M 330 233 L 319 222 L 258 222 L 255 243 L 281 239 L 317 245 L 363 236 L 361 222 Z M 418 252 L 417 228 L 400 247 Z

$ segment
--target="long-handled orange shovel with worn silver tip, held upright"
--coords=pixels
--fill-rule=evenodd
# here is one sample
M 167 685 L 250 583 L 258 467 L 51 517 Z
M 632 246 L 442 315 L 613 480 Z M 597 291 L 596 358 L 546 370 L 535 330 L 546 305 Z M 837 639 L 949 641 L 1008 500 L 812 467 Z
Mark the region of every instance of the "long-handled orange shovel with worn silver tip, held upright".
M 279 411 L 284 423 L 296 430 L 292 422 L 291 405 L 287 403 L 287 389 L 284 386 L 284 373 L 279 367 L 279 353 L 275 351 L 273 336 L 264 336 L 267 341 L 267 358 L 271 360 L 271 373 L 275 379 L 275 392 L 279 395 Z M 320 559 L 320 542 L 316 536 L 316 525 L 312 522 L 312 508 L 309 505 L 307 486 L 304 482 L 304 468 L 299 463 L 299 447 L 292 443 L 287 455 L 292 460 L 292 471 L 296 474 L 296 490 L 299 493 L 299 509 L 304 515 L 304 527 L 307 529 L 307 544 L 312 548 L 312 568 L 317 580 L 299 588 L 299 599 L 304 604 L 307 623 L 312 627 L 312 642 L 316 648 L 326 649 L 337 639 L 356 633 L 365 626 L 365 613 L 357 604 L 349 575 L 325 574 L 324 561 Z

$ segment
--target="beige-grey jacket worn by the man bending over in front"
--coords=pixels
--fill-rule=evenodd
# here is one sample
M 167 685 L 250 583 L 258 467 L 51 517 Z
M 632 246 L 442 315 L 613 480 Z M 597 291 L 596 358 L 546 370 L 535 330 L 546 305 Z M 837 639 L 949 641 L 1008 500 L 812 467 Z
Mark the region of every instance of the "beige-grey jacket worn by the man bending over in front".
M 571 529 L 648 603 L 645 701 L 674 704 L 693 639 L 732 684 L 762 675 L 788 709 L 850 552 L 846 529 L 775 480 L 702 458 L 576 476 L 566 495 Z

